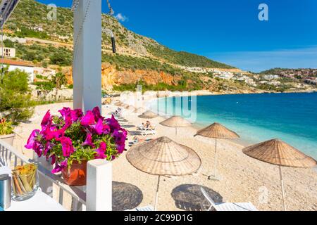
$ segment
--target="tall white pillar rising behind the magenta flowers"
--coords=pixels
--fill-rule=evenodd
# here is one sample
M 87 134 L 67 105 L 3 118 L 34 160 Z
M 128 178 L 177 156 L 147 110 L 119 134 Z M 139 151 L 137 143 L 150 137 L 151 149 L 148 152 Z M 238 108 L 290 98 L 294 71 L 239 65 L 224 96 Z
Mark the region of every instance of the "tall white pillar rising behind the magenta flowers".
M 101 0 L 79 0 L 74 12 L 74 45 L 76 39 L 73 106 L 84 111 L 101 108 Z

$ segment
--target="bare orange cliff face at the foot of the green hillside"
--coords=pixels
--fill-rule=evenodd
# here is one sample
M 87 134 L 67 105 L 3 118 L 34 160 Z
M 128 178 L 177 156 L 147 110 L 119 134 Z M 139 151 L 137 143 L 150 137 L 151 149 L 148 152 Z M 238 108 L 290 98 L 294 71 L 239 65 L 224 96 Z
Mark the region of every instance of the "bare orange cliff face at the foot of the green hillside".
M 68 84 L 73 84 L 72 69 L 64 68 Z M 123 70 L 118 71 L 116 67 L 109 64 L 102 64 L 101 68 L 101 86 L 102 89 L 111 90 L 114 85 L 135 84 L 137 81 L 144 81 L 147 84 L 165 83 L 176 85 L 181 79 L 180 76 L 172 76 L 166 72 L 157 72 L 153 70 Z

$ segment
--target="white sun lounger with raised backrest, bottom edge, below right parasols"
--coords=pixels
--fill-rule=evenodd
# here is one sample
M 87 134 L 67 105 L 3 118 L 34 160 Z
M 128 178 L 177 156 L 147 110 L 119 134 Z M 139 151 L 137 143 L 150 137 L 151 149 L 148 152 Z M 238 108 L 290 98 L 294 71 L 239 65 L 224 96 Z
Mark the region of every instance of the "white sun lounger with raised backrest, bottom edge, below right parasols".
M 200 190 L 210 204 L 208 208 L 205 208 L 201 203 L 201 210 L 211 211 L 211 209 L 213 209 L 216 211 L 258 211 L 252 203 L 215 203 L 203 187 L 200 187 Z

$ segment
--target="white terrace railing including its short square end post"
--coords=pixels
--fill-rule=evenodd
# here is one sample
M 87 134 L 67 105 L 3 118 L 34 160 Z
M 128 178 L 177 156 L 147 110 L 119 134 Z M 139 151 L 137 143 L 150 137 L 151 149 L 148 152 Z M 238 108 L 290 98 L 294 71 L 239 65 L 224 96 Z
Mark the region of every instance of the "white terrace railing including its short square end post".
M 25 163 L 34 162 L 25 157 L 13 146 L 8 145 L 0 139 L 0 160 L 8 167 L 16 167 Z M 38 165 L 39 185 L 42 191 L 58 202 L 67 210 L 111 210 L 112 207 L 112 168 L 111 163 L 104 160 L 92 160 L 87 164 L 87 186 L 78 188 L 68 186 L 63 182 L 61 176 L 51 174 L 41 162 Z M 54 186 L 54 184 L 56 186 Z M 57 187 L 57 190 L 56 188 Z M 86 193 L 87 190 L 87 200 Z M 64 203 L 64 198 L 69 195 L 71 203 Z

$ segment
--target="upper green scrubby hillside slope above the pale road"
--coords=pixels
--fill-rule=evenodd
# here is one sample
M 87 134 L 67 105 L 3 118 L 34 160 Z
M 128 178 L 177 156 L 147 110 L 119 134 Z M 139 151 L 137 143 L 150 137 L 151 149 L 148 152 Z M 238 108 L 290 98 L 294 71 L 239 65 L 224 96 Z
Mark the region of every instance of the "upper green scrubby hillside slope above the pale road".
M 17 8 L 6 23 L 6 28 L 18 36 L 39 37 L 59 41 L 73 41 L 73 13 L 69 8 L 57 9 L 57 20 L 48 20 L 50 9 L 35 0 L 20 0 Z M 113 31 L 121 53 L 131 53 L 135 56 L 156 58 L 157 60 L 204 68 L 232 68 L 229 65 L 209 60 L 186 52 L 177 52 L 162 46 L 153 39 L 135 34 L 121 25 L 116 18 L 102 16 L 102 24 Z M 42 28 L 40 31 L 34 28 Z M 67 37 L 67 38 L 66 38 Z M 104 47 L 110 48 L 110 38 L 104 34 Z

